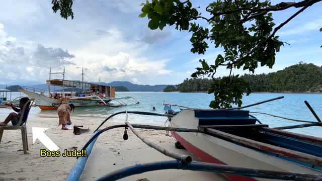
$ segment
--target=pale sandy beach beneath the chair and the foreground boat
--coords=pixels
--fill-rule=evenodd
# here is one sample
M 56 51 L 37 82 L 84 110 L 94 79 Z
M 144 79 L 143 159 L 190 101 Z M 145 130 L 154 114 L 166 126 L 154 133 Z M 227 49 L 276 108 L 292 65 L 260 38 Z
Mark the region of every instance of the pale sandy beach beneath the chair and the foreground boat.
M 0 118 L 4 120 L 4 117 Z M 64 180 L 72 168 L 75 157 L 41 157 L 40 149 L 46 147 L 37 139 L 32 143 L 32 127 L 49 128 L 45 134 L 59 147 L 64 149 L 81 150 L 91 137 L 93 131 L 103 120 L 91 117 L 75 117 L 71 115 L 73 125 L 83 125 L 90 128 L 90 132 L 74 135 L 73 130 L 61 130 L 58 126 L 58 116 L 45 113 L 30 116 L 27 122 L 29 151 L 23 154 L 20 130 L 5 130 L 0 143 L 0 180 Z M 122 118 L 119 118 L 122 119 Z M 119 120 L 120 121 L 120 120 Z M 106 126 L 120 124 L 113 122 Z M 173 151 L 189 154 L 186 150 L 176 149 L 176 140 L 165 136 L 165 131 L 140 130 L 149 140 Z M 159 153 L 139 140 L 131 131 L 128 131 L 128 140 L 123 140 L 124 128 L 117 128 L 103 133 L 92 150 L 80 180 L 95 180 L 113 170 L 136 163 L 173 160 Z M 190 154 L 191 155 L 191 154 Z M 193 155 L 192 155 L 193 156 Z M 193 157 L 194 160 L 198 160 Z M 158 170 L 132 175 L 121 180 L 225 180 L 221 175 L 209 172 L 189 170 Z

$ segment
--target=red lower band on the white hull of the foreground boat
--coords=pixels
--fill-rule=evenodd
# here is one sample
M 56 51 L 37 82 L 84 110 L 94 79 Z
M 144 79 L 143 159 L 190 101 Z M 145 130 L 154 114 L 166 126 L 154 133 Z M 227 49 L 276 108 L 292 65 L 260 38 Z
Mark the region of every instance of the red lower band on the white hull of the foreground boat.
M 176 134 L 175 132 L 171 131 L 171 134 L 175 136 L 177 141 L 179 141 L 189 152 L 193 153 L 195 156 L 201 159 L 203 162 L 208 163 L 217 163 L 217 164 L 224 164 L 224 162 L 214 158 L 213 156 L 209 155 L 208 153 L 202 151 L 201 149 L 195 147 L 188 141 L 186 141 L 184 138 Z M 235 175 L 235 174 L 222 174 L 229 180 L 236 180 L 236 181 L 255 181 L 255 178 L 248 177 L 248 176 L 242 176 L 242 175 Z

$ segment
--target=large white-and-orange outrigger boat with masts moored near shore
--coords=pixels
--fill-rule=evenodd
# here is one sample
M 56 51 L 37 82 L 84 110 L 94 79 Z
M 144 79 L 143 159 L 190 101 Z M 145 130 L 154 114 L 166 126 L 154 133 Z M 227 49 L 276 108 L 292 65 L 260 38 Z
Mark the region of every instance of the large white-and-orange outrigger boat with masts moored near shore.
M 61 104 L 73 104 L 75 107 L 84 106 L 110 106 L 118 107 L 125 106 L 126 104 L 122 99 L 133 99 L 132 97 L 115 98 L 115 87 L 101 85 L 100 83 L 90 83 L 84 81 L 84 70 L 82 73 L 82 81 L 78 80 L 65 80 L 65 68 L 63 72 L 57 72 L 63 75 L 62 79 L 50 79 L 51 74 L 49 72 L 49 80 L 46 81 L 48 84 L 48 90 L 23 86 L 18 91 L 26 94 L 28 97 L 35 99 L 35 105 L 41 110 L 53 110 L 57 109 Z M 59 86 L 59 90 L 51 90 L 51 86 Z M 67 88 L 67 89 L 65 89 Z M 74 92 L 76 91 L 76 92 Z M 119 105 L 110 105 L 111 101 L 116 101 Z M 139 102 L 136 101 L 136 104 Z

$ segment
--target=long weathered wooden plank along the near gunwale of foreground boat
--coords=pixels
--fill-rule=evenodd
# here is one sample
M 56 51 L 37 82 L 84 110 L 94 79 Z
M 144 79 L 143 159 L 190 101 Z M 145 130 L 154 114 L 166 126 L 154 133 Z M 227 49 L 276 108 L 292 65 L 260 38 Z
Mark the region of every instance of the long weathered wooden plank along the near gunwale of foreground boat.
M 251 146 L 253 148 L 261 149 L 261 150 L 268 151 L 268 152 L 271 152 L 271 153 L 275 153 L 275 154 L 278 154 L 278 155 L 282 155 L 282 156 L 285 156 L 285 157 L 288 157 L 288 158 L 293 158 L 293 159 L 303 161 L 303 162 L 306 162 L 306 163 L 311 163 L 311 164 L 314 164 L 314 165 L 322 166 L 322 158 L 321 157 L 317 157 L 317 156 L 313 156 L 313 155 L 310 155 L 310 154 L 306 154 L 306 153 L 302 153 L 302 152 L 298 152 L 298 151 L 293 151 L 293 150 L 273 146 L 273 145 L 266 144 L 266 143 L 261 143 L 261 142 L 258 142 L 258 141 L 243 138 L 243 137 L 240 137 L 240 136 L 235 136 L 235 135 L 225 133 L 225 132 L 215 130 L 215 129 L 205 128 L 204 132 L 206 134 L 210 134 L 210 135 L 213 134 L 213 135 L 220 136 L 220 137 L 223 137 L 223 138 L 231 140 L 231 141 L 242 143 L 242 144 Z

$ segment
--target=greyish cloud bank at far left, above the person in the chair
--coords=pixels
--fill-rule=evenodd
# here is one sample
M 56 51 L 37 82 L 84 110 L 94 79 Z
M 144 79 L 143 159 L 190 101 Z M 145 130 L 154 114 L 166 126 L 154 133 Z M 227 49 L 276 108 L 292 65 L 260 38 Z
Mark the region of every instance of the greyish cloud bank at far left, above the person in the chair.
M 72 54 L 61 48 L 46 48 L 38 45 L 32 49 L 21 44 L 14 37 L 9 37 L 0 24 L 0 62 L 2 63 L 0 76 L 3 80 L 42 80 L 47 78 L 49 66 L 74 64 L 70 59 Z M 14 41 L 14 42 L 13 42 Z

